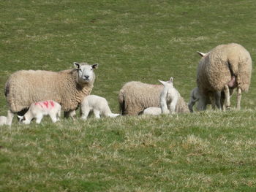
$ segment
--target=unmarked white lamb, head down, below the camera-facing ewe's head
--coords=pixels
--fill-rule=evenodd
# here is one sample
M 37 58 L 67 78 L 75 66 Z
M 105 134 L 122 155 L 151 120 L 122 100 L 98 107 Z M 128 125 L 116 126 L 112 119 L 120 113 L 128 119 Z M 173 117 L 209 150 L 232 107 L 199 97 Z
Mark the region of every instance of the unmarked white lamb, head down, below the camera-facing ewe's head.
M 95 95 L 89 95 L 83 99 L 80 112 L 83 120 L 87 119 L 90 112 L 94 112 L 95 118 L 100 118 L 100 116 L 115 118 L 119 115 L 111 112 L 105 98 Z

